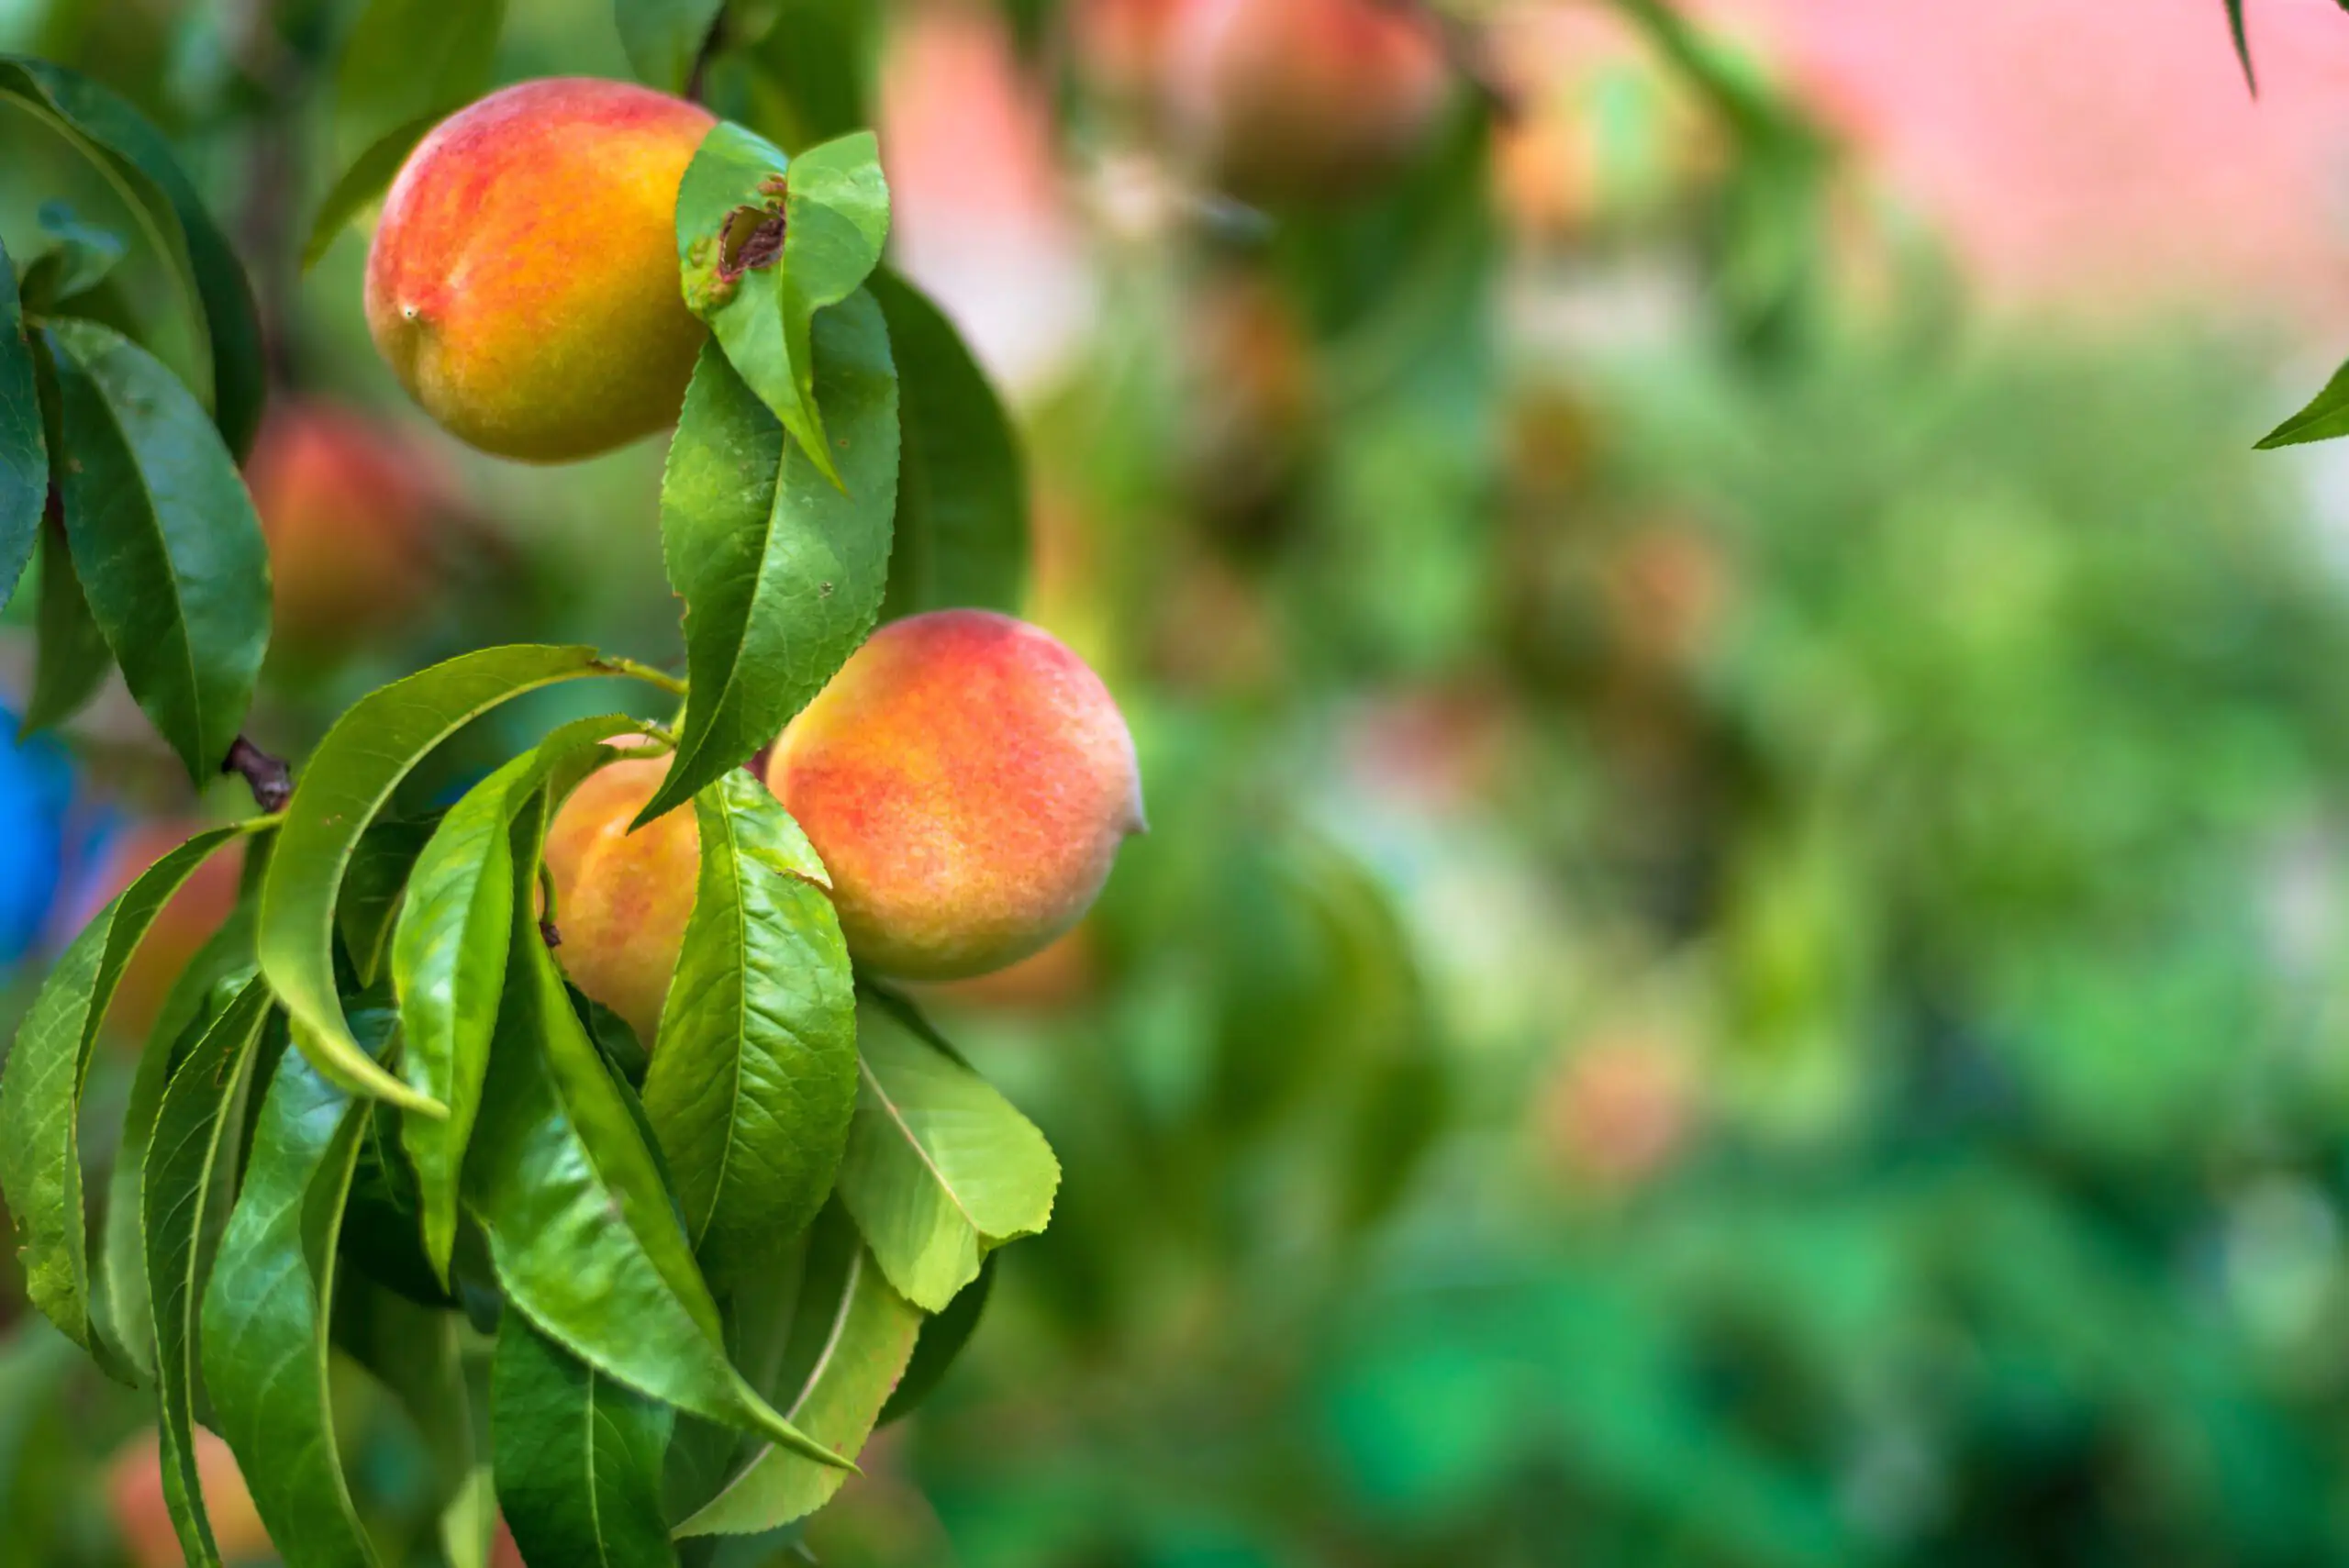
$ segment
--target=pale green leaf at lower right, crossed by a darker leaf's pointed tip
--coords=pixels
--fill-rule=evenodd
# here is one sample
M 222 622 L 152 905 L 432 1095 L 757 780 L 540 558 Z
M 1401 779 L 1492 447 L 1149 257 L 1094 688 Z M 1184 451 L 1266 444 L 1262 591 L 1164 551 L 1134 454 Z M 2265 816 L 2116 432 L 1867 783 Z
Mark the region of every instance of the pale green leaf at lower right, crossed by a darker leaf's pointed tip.
M 782 1383 L 794 1390 L 785 1413 L 836 1453 L 855 1455 L 904 1376 L 918 1333 L 921 1312 L 890 1289 L 848 1216 L 827 1209 L 808 1244 L 782 1357 Z M 820 1509 L 843 1479 L 841 1469 L 766 1448 L 677 1533 L 773 1530 Z

